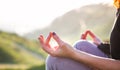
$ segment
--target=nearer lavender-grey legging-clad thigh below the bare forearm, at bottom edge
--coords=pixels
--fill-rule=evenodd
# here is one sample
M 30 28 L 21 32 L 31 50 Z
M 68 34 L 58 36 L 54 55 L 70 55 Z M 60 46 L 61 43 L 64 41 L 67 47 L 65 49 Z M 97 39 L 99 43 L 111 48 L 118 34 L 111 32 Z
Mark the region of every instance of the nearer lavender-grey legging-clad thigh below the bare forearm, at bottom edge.
M 48 56 L 46 70 L 91 70 L 91 68 L 71 59 Z

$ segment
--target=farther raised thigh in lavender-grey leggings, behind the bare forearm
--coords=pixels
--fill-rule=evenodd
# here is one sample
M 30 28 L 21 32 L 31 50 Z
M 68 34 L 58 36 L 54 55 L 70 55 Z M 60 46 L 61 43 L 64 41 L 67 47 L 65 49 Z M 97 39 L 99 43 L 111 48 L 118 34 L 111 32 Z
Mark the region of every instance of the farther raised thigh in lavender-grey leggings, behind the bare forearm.
M 106 54 L 98 49 L 97 45 L 87 40 L 79 40 L 73 46 L 80 51 L 84 51 L 96 56 L 108 57 Z

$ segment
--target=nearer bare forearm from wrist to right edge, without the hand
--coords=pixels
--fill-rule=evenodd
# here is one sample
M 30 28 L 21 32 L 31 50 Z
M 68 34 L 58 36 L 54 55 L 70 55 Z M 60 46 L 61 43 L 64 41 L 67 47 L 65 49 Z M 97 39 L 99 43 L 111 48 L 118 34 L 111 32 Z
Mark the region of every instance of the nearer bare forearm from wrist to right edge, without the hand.
M 82 62 L 92 68 L 100 70 L 120 70 L 120 61 L 94 56 L 79 50 L 75 50 L 71 58 L 78 62 Z

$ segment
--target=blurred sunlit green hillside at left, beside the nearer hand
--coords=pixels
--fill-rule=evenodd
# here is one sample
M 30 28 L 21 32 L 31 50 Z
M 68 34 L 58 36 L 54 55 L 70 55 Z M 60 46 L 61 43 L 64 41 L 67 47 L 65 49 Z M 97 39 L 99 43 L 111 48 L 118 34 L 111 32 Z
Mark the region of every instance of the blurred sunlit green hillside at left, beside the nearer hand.
M 0 64 L 40 64 L 44 58 L 36 41 L 0 31 Z

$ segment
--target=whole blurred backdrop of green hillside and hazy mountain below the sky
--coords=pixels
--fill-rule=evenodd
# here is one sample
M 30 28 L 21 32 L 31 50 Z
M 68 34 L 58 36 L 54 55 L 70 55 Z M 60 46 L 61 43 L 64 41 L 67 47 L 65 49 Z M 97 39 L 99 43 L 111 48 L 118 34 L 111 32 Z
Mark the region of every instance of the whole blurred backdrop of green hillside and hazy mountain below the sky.
M 53 20 L 50 26 L 24 36 L 0 31 L 0 70 L 45 70 L 47 54 L 37 40 L 40 34 L 50 31 L 71 45 L 90 29 L 103 41 L 109 41 L 114 23 L 115 9 L 107 4 L 87 5 L 71 10 Z

